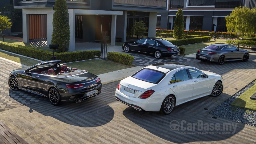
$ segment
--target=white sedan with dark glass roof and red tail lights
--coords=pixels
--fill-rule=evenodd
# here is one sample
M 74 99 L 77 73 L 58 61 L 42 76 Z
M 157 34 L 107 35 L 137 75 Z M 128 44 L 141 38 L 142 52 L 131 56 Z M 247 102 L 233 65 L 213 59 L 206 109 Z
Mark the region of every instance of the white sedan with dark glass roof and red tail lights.
M 222 91 L 222 76 L 165 62 L 149 65 L 121 80 L 115 97 L 139 111 L 170 114 L 174 106 L 208 95 L 219 96 Z

